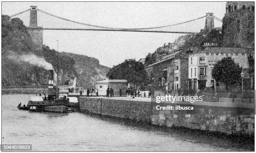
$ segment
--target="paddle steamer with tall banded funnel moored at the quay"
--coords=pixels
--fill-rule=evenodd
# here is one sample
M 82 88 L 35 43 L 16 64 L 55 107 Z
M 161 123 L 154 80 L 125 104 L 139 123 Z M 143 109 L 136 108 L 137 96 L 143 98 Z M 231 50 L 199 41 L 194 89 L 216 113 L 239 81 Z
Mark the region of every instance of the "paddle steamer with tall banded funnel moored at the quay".
M 66 94 L 59 94 L 59 88 L 54 86 L 54 70 L 49 70 L 48 95 L 31 96 L 28 104 L 20 106 L 18 109 L 31 111 L 46 111 L 56 113 L 67 113 L 78 109 L 76 97 L 67 98 Z

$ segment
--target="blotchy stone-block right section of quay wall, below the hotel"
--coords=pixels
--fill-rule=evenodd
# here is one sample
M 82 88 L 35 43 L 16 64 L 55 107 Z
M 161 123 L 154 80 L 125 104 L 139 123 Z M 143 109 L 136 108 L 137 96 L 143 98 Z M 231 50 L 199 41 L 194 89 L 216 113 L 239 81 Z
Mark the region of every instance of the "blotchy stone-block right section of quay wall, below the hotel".
M 254 114 L 251 112 L 253 110 L 248 108 L 197 106 L 192 115 L 181 114 L 177 111 L 180 110 L 160 110 L 159 112 L 154 112 L 151 116 L 151 123 L 167 127 L 177 126 L 212 132 L 218 131 L 227 134 L 254 133 Z

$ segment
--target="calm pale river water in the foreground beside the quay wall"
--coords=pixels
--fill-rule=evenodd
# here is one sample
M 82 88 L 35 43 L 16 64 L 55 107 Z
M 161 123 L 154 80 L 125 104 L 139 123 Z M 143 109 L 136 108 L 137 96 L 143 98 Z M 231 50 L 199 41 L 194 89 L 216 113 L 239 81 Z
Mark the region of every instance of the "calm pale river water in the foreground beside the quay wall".
M 246 151 L 246 146 L 198 132 L 141 125 L 82 113 L 18 110 L 30 95 L 2 95 L 2 144 L 33 151 Z M 34 96 L 34 95 L 33 95 Z

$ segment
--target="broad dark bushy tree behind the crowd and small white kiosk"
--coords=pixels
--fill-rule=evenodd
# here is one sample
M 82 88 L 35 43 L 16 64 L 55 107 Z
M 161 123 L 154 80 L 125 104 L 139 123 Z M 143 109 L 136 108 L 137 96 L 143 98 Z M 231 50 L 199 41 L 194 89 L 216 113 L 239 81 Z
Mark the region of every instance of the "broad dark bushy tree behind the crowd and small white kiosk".
M 135 59 L 125 60 L 123 63 L 114 65 L 107 73 L 109 79 L 127 80 L 135 85 L 146 85 L 148 77 L 144 65 Z

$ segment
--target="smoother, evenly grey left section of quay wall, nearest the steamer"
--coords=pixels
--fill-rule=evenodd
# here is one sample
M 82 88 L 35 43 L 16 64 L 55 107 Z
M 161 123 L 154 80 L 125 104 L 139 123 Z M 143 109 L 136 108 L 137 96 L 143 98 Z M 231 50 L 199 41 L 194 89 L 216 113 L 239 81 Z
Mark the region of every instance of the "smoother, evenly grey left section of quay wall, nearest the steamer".
M 80 111 L 151 122 L 151 103 L 110 98 L 79 97 Z

